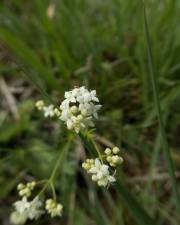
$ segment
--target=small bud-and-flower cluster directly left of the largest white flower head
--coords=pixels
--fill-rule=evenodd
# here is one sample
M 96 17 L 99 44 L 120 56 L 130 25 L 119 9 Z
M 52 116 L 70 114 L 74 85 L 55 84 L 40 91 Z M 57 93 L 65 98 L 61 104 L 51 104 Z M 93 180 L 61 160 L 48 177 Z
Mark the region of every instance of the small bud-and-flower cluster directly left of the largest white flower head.
M 56 107 L 54 107 L 54 105 L 48 105 L 46 106 L 43 100 L 39 100 L 36 102 L 36 107 L 38 110 L 43 110 L 44 112 L 44 117 L 54 117 L 60 116 L 60 111 L 59 109 L 57 109 Z

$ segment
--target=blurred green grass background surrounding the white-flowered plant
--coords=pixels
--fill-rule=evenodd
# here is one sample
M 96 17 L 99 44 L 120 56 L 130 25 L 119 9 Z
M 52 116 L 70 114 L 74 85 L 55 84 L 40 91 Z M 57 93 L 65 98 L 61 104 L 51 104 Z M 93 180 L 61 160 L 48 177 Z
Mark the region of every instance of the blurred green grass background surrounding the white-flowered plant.
M 120 146 L 118 183 L 98 189 L 81 170 L 77 143 L 56 182 L 61 219 L 29 224 L 178 225 L 177 196 L 161 140 L 151 76 L 159 80 L 161 117 L 177 178 L 180 176 L 180 2 L 146 1 L 155 73 L 148 67 L 143 4 L 138 0 L 9 0 L 0 3 L 0 76 L 16 100 L 14 119 L 0 96 L 0 221 L 9 224 L 16 185 L 47 178 L 71 138 L 59 121 L 34 109 L 44 98 L 60 104 L 63 93 L 85 85 L 103 107 L 98 144 Z M 53 19 L 47 8 L 55 5 Z M 156 93 L 157 94 L 157 93 Z M 50 96 L 50 97 L 49 97 Z M 156 95 L 157 96 L 157 95 Z M 177 180 L 178 181 L 178 180 Z

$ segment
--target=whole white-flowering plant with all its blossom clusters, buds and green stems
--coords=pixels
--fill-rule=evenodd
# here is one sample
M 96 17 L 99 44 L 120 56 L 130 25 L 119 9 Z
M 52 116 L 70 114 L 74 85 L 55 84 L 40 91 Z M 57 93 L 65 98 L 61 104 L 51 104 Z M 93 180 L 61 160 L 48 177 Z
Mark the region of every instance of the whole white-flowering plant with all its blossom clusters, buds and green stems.
M 73 131 L 78 138 L 81 138 L 83 145 L 85 145 L 83 138 L 93 144 L 96 152 L 93 153 L 94 157 L 87 157 L 82 163 L 82 168 L 91 176 L 93 182 L 102 187 L 109 187 L 110 184 L 116 182 L 116 170 L 118 165 L 123 162 L 120 149 L 113 147 L 101 151 L 91 133 L 101 108 L 95 90 L 88 90 L 84 86 L 75 87 L 65 92 L 64 100 L 59 106 L 52 103 L 48 105 L 43 100 L 38 100 L 35 106 L 43 112 L 45 118 L 56 118 L 57 121 L 62 121 L 68 130 Z M 52 174 L 47 180 L 33 180 L 18 184 L 17 190 L 20 199 L 13 204 L 14 211 L 10 216 L 12 224 L 25 224 L 28 220 L 37 220 L 43 214 L 48 214 L 52 218 L 62 215 L 63 205 L 57 201 L 54 182 L 68 146 L 69 143 L 61 150 Z M 51 189 L 52 197 L 44 199 L 47 188 Z M 37 193 L 36 189 L 40 189 L 40 191 Z

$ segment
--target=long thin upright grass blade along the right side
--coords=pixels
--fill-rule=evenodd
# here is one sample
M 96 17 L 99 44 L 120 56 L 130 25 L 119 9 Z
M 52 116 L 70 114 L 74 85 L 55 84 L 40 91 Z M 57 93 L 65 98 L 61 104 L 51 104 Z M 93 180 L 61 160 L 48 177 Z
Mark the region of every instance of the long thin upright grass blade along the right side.
M 169 175 L 170 175 L 171 181 L 172 181 L 174 198 L 176 200 L 177 208 L 180 211 L 180 196 L 179 196 L 177 182 L 176 182 L 175 173 L 174 173 L 174 164 L 173 164 L 173 160 L 171 158 L 169 145 L 168 145 L 166 132 L 165 132 L 165 127 L 164 127 L 164 123 L 163 123 L 161 104 L 160 104 L 160 98 L 159 98 L 159 90 L 158 90 L 158 80 L 156 77 L 155 67 L 154 67 L 154 63 L 153 63 L 150 34 L 149 34 L 148 21 L 147 21 L 147 16 L 146 16 L 145 1 L 142 1 L 142 3 L 143 3 L 143 20 L 144 20 L 145 38 L 146 38 L 147 51 L 148 51 L 150 78 L 151 78 L 151 83 L 152 83 L 152 88 L 153 88 L 156 113 L 157 113 L 160 132 L 161 132 L 161 142 L 163 145 L 164 155 L 165 155 L 166 161 L 167 161 L 168 172 L 169 172 Z

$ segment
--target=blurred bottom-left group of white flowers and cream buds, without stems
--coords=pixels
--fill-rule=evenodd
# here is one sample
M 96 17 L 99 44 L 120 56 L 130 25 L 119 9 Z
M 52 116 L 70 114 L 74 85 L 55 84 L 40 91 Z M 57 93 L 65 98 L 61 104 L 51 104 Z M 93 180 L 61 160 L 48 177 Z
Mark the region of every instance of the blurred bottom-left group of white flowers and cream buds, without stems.
M 19 184 L 17 186 L 19 195 L 22 199 L 13 204 L 15 211 L 10 216 L 10 221 L 12 224 L 25 224 L 28 219 L 37 220 L 42 214 L 45 213 L 45 210 L 42 208 L 43 202 L 38 196 L 33 198 L 31 201 L 28 200 L 35 185 L 36 182 L 32 181 L 27 184 Z M 48 199 L 45 203 L 45 209 L 51 217 L 55 217 L 61 216 L 63 206 L 53 199 Z

